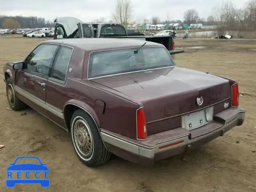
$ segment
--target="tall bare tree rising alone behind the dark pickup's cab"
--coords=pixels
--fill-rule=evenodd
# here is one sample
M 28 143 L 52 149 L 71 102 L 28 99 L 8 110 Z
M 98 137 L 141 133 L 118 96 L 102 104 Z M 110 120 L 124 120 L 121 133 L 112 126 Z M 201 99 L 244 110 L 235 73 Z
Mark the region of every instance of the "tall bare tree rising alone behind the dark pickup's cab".
M 112 14 L 112 19 L 121 24 L 128 24 L 132 19 L 132 1 L 116 0 L 116 9 Z

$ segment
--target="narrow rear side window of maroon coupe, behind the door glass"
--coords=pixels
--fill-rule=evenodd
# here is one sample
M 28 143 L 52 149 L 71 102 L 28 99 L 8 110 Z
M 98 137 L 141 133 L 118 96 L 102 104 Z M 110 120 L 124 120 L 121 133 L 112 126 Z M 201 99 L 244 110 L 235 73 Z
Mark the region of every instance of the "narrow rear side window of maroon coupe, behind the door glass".
M 50 78 L 54 78 L 58 81 L 64 82 L 66 79 L 66 72 L 68 69 L 68 63 L 71 57 L 73 49 L 65 46 L 61 46 L 56 60 L 52 67 Z

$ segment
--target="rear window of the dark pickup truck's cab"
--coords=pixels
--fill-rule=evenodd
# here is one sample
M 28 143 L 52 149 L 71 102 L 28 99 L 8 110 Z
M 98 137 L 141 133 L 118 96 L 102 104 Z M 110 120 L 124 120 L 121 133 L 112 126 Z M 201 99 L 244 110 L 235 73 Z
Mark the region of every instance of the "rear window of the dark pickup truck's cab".
M 126 36 L 123 26 L 102 26 L 100 36 Z

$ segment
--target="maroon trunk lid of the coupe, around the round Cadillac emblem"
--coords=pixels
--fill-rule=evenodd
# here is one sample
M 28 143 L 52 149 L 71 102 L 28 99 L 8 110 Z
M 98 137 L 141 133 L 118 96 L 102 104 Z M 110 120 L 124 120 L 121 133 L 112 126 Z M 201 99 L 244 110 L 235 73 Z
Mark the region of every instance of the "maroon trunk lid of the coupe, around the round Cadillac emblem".
M 178 67 L 119 74 L 92 81 L 140 102 L 144 106 L 148 134 L 180 127 L 182 115 L 231 96 L 228 80 Z M 201 106 L 197 104 L 198 97 L 203 98 Z

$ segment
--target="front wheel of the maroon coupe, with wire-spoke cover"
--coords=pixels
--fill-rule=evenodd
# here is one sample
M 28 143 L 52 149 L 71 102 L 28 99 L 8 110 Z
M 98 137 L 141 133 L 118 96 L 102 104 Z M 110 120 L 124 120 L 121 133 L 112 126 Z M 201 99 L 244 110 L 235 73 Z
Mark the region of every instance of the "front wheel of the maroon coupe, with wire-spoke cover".
M 8 103 L 13 110 L 18 111 L 27 107 L 27 105 L 24 102 L 18 99 L 11 78 L 7 78 L 6 80 L 6 96 Z

